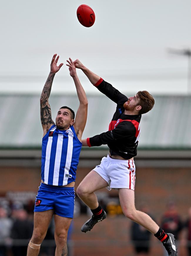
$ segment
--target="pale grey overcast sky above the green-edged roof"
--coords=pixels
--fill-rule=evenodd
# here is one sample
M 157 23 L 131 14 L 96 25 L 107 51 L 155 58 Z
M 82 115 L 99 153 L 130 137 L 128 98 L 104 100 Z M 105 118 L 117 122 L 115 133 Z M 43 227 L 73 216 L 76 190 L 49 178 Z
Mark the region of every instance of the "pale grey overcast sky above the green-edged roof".
M 78 22 L 80 4 L 95 12 L 90 28 Z M 0 92 L 40 94 L 58 53 L 64 66 L 53 93 L 75 92 L 65 66 L 71 57 L 125 93 L 186 94 L 187 58 L 167 48 L 191 48 L 190 9 L 190 0 L 3 1 Z M 78 75 L 86 92 L 97 93 Z

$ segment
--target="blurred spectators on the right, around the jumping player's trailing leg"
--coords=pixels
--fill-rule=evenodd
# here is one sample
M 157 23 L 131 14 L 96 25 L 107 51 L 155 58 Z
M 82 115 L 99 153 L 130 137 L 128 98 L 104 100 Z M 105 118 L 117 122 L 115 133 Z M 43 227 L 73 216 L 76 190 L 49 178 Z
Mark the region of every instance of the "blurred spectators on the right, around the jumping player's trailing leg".
M 154 219 L 146 204 L 142 205 L 139 210 L 147 213 Z M 175 203 L 169 202 L 159 224 L 166 233 L 174 234 L 177 245 L 187 247 L 187 255 L 191 256 L 191 207 L 188 209 L 187 219 L 182 220 L 177 212 Z M 148 230 L 137 223 L 133 223 L 131 226 L 131 239 L 135 255 L 144 256 L 149 254 L 152 235 Z M 164 256 L 168 256 L 165 249 Z

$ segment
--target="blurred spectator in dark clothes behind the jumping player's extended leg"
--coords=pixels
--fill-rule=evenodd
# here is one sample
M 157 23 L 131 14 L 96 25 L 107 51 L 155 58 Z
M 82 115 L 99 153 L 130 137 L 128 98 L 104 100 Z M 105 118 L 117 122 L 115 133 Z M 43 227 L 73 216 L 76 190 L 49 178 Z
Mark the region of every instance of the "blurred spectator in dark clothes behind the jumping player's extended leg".
M 152 217 L 149 214 L 148 206 L 142 205 L 140 207 L 140 211 L 143 211 L 147 213 L 150 217 Z M 131 240 L 134 245 L 134 249 L 137 255 L 148 255 L 150 251 L 150 239 L 151 239 L 151 233 L 145 229 L 143 226 L 140 226 L 136 222 L 132 223 L 131 226 Z

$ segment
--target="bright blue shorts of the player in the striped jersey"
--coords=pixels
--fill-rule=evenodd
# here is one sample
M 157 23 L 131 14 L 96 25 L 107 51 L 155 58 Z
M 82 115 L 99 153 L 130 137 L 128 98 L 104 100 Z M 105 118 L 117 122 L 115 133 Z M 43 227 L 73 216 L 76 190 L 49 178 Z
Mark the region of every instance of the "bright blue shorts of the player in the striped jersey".
M 41 183 L 36 196 L 34 212 L 54 209 L 54 214 L 73 218 L 74 187 L 57 187 Z

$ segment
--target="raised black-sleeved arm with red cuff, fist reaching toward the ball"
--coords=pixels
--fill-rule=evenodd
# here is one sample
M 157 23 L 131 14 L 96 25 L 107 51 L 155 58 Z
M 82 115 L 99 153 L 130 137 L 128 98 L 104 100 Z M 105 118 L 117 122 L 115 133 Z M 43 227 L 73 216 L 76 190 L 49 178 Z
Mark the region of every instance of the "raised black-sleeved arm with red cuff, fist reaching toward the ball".
M 97 87 L 100 92 L 110 98 L 110 100 L 113 100 L 115 103 L 122 106 L 124 102 L 128 101 L 128 98 L 124 94 L 120 93 L 111 84 L 104 81 L 100 76 L 87 69 L 78 59 L 74 61 L 74 65 L 76 68 L 81 69 L 90 82 Z

